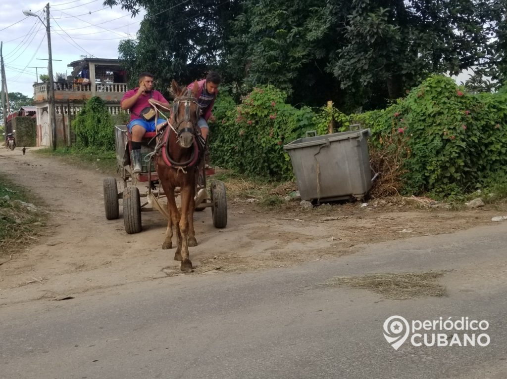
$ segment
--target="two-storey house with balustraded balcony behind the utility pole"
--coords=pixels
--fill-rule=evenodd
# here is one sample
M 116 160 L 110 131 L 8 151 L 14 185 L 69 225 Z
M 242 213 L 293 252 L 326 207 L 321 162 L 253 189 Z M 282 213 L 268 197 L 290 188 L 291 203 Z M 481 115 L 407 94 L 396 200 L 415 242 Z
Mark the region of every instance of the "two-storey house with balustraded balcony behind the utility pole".
M 56 135 L 59 145 L 74 142 L 70 122 L 86 100 L 98 96 L 105 101 L 111 114 L 121 112 L 120 101 L 127 92 L 125 71 L 118 59 L 87 58 L 71 62 L 72 73 L 54 82 Z M 49 114 L 49 82 L 33 85 L 33 99 L 37 114 L 37 146 L 52 146 Z

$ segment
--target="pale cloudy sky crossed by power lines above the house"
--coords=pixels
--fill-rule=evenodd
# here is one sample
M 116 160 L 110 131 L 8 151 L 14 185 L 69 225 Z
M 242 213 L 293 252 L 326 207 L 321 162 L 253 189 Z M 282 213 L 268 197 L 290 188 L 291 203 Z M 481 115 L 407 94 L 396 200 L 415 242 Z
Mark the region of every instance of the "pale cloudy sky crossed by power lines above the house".
M 119 42 L 135 39 L 144 13 L 141 11 L 131 18 L 130 13 L 120 7 L 104 8 L 102 2 L 55 0 L 50 3 L 53 74 L 70 74 L 72 69 L 67 64 L 80 60 L 82 55 L 118 58 Z M 9 92 L 21 92 L 32 97 L 36 72 L 39 75 L 48 72 L 46 28 L 39 18 L 22 13 L 23 10 L 31 10 L 46 23 L 46 4 L 47 1 L 2 0 L 0 41 L 3 41 Z

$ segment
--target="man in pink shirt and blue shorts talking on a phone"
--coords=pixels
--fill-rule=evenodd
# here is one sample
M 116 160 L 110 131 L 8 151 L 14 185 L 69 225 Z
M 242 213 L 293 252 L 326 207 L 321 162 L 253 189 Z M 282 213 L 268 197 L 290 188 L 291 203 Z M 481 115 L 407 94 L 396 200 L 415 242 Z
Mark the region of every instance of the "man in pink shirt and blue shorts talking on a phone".
M 132 174 L 142 172 L 141 168 L 141 141 L 144 133 L 155 132 L 155 117 L 147 121 L 141 116 L 144 108 L 150 107 L 148 100 L 154 99 L 161 103 L 169 104 L 162 94 L 153 89 L 153 74 L 141 72 L 139 74 L 139 87 L 127 91 L 123 95 L 120 105 L 123 110 L 130 109 L 130 122 L 127 127 L 132 134 L 132 158 L 134 160 L 134 169 Z M 158 118 L 159 124 L 163 123 L 164 118 Z

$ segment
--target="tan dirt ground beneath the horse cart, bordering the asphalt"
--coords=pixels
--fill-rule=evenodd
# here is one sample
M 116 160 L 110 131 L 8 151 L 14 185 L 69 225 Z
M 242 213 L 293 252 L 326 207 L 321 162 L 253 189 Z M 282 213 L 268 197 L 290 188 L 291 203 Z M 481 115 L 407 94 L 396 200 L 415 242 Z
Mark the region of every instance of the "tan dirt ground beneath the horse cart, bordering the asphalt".
M 505 210 L 498 204 L 459 212 L 419 209 L 410 201 L 382 200 L 310 210 L 295 203 L 280 211 L 228 196 L 225 229 L 213 227 L 209 208 L 195 213 L 199 245 L 191 248 L 190 258 L 196 268 L 182 274 L 179 262 L 173 261 L 174 249 L 161 248 L 166 226 L 161 214 L 142 213 L 143 231 L 127 234 L 121 200 L 120 218 L 105 219 L 106 175 L 35 155 L 34 149 L 22 155 L 21 149 L 0 148 L 0 171 L 40 196 L 50 213 L 47 235 L 0 258 L 0 306 L 60 300 L 173 275 L 221 275 L 337 259 L 365 243 L 494 224 L 491 218 Z

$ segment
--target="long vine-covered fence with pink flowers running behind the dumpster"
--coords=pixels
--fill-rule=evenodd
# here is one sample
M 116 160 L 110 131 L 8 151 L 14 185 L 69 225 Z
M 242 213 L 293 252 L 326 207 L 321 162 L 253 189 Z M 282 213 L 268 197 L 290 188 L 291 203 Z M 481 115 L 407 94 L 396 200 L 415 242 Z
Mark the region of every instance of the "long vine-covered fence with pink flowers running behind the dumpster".
M 431 76 L 387 109 L 344 115 L 334 108 L 297 109 L 272 86 L 236 105 L 221 95 L 211 123 L 213 163 L 251 177 L 292 178 L 283 145 L 308 130 L 335 131 L 359 122 L 370 128 L 371 151 L 397 154 L 405 193 L 465 193 L 506 178 L 507 94 L 472 95 L 454 80 Z

